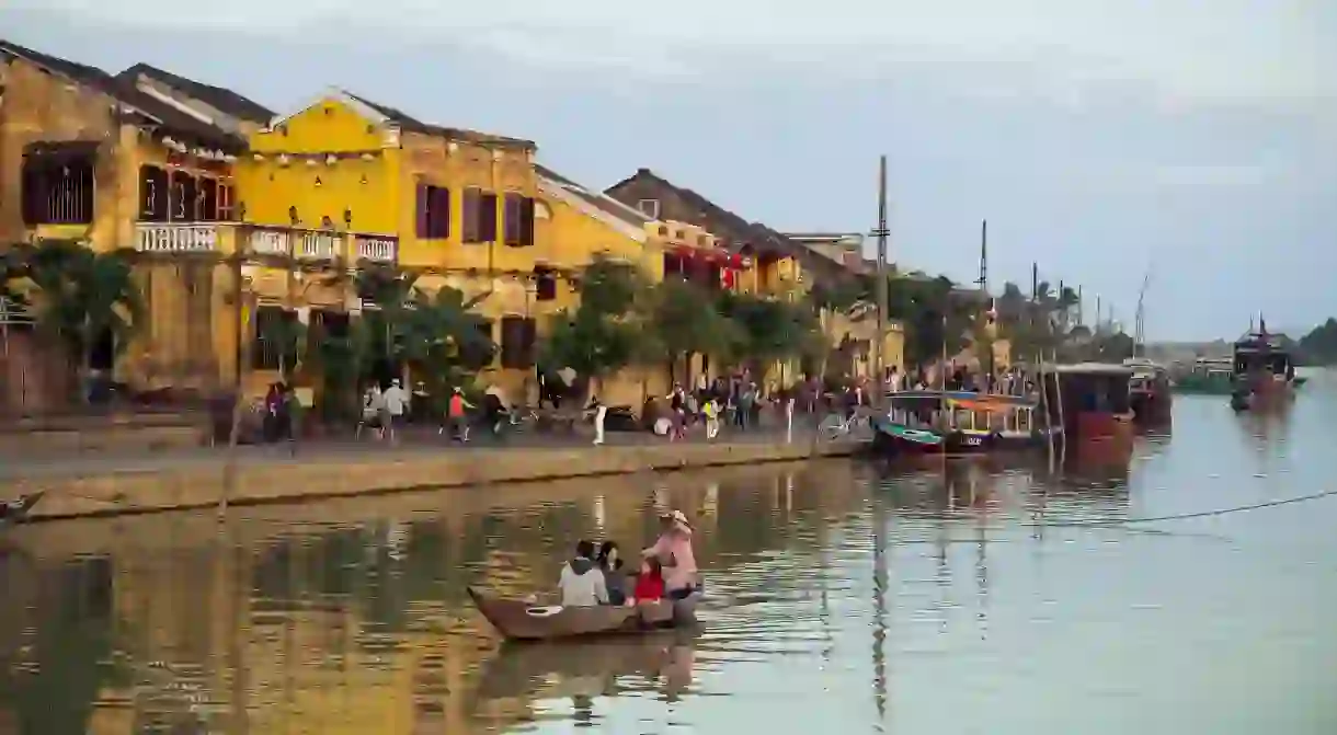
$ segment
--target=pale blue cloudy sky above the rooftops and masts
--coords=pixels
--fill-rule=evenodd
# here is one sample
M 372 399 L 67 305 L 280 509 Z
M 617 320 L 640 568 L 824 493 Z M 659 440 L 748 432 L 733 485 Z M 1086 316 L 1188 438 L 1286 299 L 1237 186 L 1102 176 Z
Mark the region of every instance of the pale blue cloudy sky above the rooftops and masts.
M 1082 286 L 1150 339 L 1337 314 L 1337 3 L 4 0 L 0 35 L 291 112 L 330 86 L 647 167 L 777 230 L 866 233 L 888 156 L 908 270 Z

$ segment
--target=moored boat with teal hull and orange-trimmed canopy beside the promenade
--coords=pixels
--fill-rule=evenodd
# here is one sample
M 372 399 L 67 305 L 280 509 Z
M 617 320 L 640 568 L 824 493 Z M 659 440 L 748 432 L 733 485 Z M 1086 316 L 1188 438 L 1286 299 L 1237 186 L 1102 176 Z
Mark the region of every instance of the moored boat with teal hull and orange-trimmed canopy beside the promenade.
M 1024 452 L 1050 440 L 1031 398 L 968 390 L 901 390 L 888 398 L 888 413 L 870 421 L 873 449 L 881 454 Z

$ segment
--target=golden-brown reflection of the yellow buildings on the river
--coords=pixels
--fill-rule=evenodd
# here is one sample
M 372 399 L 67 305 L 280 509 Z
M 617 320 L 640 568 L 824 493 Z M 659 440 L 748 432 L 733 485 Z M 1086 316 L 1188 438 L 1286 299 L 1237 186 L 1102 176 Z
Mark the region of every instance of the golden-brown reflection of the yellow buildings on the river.
M 539 718 L 554 696 L 527 684 L 540 675 L 579 690 L 566 692 L 576 710 L 610 680 L 686 696 L 691 639 L 570 664 L 516 653 L 464 589 L 550 589 L 580 537 L 648 544 L 656 498 L 698 519 L 710 573 L 766 573 L 774 552 L 816 557 L 857 516 L 856 472 L 409 493 L 234 509 L 223 525 L 175 513 L 27 527 L 0 561 L 3 651 L 25 662 L 3 675 L 0 712 L 21 732 L 467 732 Z

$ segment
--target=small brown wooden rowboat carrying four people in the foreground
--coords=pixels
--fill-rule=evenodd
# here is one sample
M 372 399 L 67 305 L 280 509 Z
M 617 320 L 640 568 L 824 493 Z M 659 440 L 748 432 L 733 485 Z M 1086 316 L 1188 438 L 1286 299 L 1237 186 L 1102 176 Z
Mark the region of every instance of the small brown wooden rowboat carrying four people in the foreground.
M 698 592 L 686 600 L 658 600 L 635 607 L 563 607 L 496 597 L 472 587 L 468 592 L 483 617 L 508 640 L 638 635 L 658 628 L 686 627 L 695 624 L 701 597 Z

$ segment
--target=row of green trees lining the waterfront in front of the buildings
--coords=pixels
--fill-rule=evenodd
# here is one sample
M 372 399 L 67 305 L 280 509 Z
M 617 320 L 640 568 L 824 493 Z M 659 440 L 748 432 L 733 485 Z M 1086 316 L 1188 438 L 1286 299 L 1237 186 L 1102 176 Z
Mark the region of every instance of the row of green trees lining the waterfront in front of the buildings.
M 15 245 L 0 257 L 0 297 L 31 315 L 35 329 L 57 345 L 71 366 L 67 381 L 86 402 L 95 350 L 123 351 L 147 322 L 146 299 L 132 274 L 132 255 L 94 253 L 72 241 Z M 499 346 L 480 330 L 476 299 L 455 289 L 429 293 L 412 269 L 366 266 L 341 277 L 350 295 L 374 307 L 336 330 L 298 319 L 266 321 L 257 337 L 277 346 L 281 374 L 318 397 L 310 410 L 321 421 L 356 421 L 361 389 L 396 376 L 421 382 L 433 404 L 460 386 L 479 398 L 480 373 Z M 727 370 L 747 369 L 759 385 L 789 389 L 802 376 L 848 384 L 848 357 L 860 347 L 836 339 L 829 315 L 876 314 L 876 277 L 856 271 L 824 278 L 787 294 L 750 294 L 666 278 L 654 282 L 638 266 L 595 257 L 578 278 L 574 309 L 539 329 L 533 357 L 540 374 L 571 369 L 572 394 L 598 394 L 600 381 L 627 369 L 663 370 L 668 382 L 689 385 L 683 366 L 705 357 Z M 888 319 L 900 322 L 906 370 L 975 347 L 992 354 L 1008 339 L 1011 354 L 1029 358 L 1058 351 L 1075 359 L 1122 359 L 1132 339 L 1116 330 L 1078 323 L 1076 291 L 1038 282 L 1025 295 L 1007 283 L 993 298 L 945 277 L 888 275 Z M 778 368 L 778 370 L 777 370 Z M 1001 369 L 1003 366 L 995 366 Z M 74 400 L 74 398 L 72 398 Z M 444 405 L 432 405 L 440 414 Z M 635 406 L 639 410 L 642 406 Z

